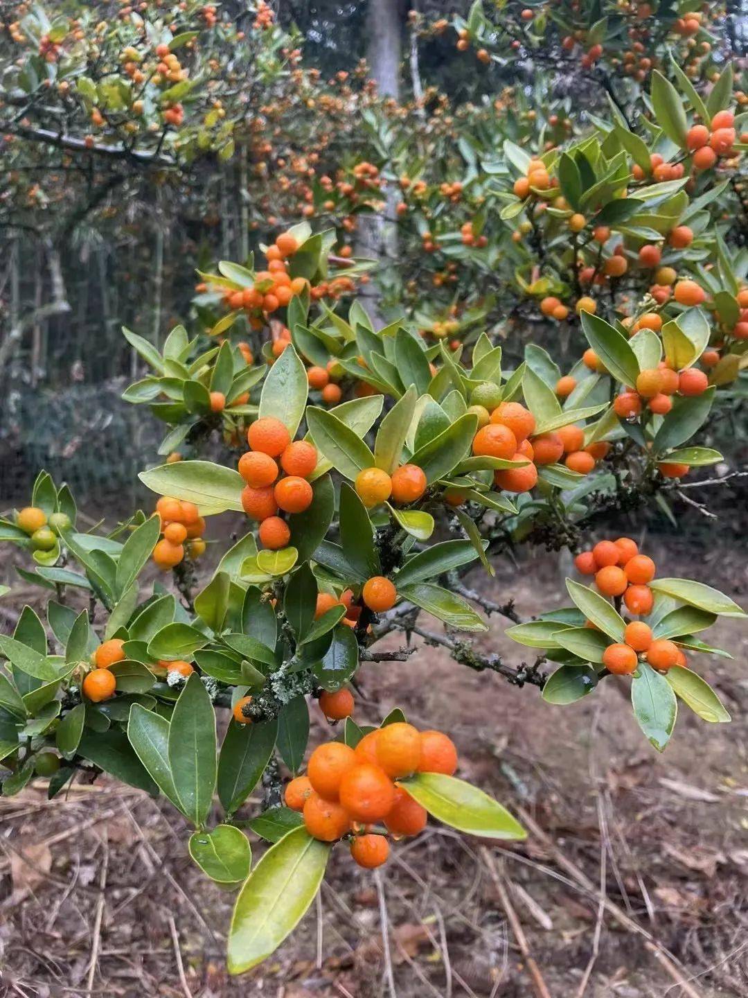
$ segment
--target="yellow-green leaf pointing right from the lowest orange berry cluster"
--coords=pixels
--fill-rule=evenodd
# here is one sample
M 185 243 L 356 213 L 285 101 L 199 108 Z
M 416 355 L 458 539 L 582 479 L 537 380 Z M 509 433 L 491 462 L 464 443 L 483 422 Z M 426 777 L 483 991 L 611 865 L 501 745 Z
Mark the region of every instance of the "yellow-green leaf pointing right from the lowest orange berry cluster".
M 419 772 L 397 785 L 433 817 L 459 831 L 484 838 L 527 838 L 527 831 L 506 807 L 463 779 L 442 772 Z

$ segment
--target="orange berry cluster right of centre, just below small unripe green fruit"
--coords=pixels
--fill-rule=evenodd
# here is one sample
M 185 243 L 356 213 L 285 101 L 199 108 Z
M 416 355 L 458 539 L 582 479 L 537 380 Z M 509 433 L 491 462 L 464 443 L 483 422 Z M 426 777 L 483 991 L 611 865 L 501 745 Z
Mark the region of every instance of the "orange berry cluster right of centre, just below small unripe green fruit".
M 473 453 L 508 461 L 530 461 L 521 468 L 494 472 L 494 482 L 507 492 L 529 492 L 538 482 L 538 467 L 556 464 L 564 454 L 563 463 L 569 470 L 586 475 L 610 446 L 599 443 L 584 447 L 584 431 L 573 424 L 533 436 L 535 416 L 520 402 L 502 402 L 489 418 L 488 424 L 473 438 Z

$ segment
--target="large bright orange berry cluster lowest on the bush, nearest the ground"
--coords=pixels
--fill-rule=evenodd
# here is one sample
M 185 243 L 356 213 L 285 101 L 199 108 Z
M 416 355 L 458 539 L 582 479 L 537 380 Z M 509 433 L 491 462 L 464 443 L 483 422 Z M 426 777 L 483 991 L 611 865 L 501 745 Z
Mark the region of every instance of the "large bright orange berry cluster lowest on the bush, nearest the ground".
M 387 860 L 386 833 L 371 830 L 382 822 L 394 838 L 417 835 L 426 827 L 426 809 L 397 784 L 416 772 L 453 775 L 457 749 L 441 732 L 419 732 L 396 722 L 369 732 L 355 749 L 329 742 L 311 753 L 305 776 L 285 788 L 286 805 L 303 814 L 314 838 L 335 842 L 350 835 L 353 859 L 368 869 Z

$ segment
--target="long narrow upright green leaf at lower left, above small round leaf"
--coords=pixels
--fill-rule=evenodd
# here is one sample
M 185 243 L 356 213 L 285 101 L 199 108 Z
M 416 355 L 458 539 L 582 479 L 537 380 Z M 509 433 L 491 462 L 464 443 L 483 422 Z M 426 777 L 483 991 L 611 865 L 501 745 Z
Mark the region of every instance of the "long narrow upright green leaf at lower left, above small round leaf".
M 168 755 L 182 810 L 201 825 L 210 812 L 215 789 L 215 714 L 196 673 L 188 677 L 175 706 Z

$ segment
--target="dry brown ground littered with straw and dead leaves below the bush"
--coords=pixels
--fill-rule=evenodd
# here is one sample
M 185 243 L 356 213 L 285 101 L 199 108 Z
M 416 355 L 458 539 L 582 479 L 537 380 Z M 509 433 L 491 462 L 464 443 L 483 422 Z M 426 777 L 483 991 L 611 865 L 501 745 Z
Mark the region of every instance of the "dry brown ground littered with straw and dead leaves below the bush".
M 740 548 L 671 538 L 659 560 L 665 574 L 709 579 L 746 602 Z M 516 596 L 523 616 L 561 601 L 550 556 L 471 582 L 493 599 Z M 505 623 L 493 619 L 481 643 L 518 662 Z M 714 640 L 734 661 L 699 669 L 733 723 L 683 710 L 663 755 L 640 736 L 622 684 L 557 708 L 433 649 L 367 667 L 362 720 L 401 706 L 450 731 L 461 774 L 538 830 L 487 857 L 478 840 L 430 826 L 393 850 L 379 880 L 340 849 L 320 904 L 238 980 L 222 958 L 231 895 L 190 865 L 168 805 L 106 779 L 51 803 L 42 785 L 0 799 L 0 993 L 537 998 L 508 901 L 553 998 L 744 998 L 748 629 L 725 621 Z

